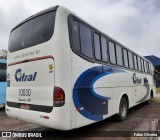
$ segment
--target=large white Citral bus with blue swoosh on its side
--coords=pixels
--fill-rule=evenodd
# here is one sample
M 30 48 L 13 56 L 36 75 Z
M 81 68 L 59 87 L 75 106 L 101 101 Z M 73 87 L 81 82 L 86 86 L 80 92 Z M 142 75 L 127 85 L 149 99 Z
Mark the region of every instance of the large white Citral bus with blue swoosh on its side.
M 70 10 L 22 21 L 9 38 L 8 116 L 59 130 L 79 128 L 154 96 L 153 65 Z

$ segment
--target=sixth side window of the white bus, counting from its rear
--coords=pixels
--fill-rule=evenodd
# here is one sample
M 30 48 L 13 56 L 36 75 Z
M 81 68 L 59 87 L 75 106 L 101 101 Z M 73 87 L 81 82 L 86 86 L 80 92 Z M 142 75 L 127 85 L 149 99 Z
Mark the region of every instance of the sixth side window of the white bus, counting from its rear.
M 116 44 L 117 65 L 123 66 L 122 47 Z

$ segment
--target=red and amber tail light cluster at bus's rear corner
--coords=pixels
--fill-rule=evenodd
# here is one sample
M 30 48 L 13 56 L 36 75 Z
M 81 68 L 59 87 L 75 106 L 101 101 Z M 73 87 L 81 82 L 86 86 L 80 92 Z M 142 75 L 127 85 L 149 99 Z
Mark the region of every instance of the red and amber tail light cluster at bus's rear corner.
M 54 106 L 55 107 L 61 107 L 65 103 L 65 93 L 62 88 L 60 87 L 54 87 Z

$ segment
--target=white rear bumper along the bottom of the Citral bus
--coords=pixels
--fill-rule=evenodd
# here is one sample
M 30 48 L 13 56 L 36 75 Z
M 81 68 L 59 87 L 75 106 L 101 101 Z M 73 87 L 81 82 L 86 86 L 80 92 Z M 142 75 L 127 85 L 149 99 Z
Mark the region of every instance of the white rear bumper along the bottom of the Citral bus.
M 24 110 L 6 105 L 6 114 L 10 117 L 58 130 L 71 129 L 70 112 L 70 103 L 63 107 L 54 107 L 51 113 Z M 48 116 L 49 119 L 45 119 L 43 116 Z

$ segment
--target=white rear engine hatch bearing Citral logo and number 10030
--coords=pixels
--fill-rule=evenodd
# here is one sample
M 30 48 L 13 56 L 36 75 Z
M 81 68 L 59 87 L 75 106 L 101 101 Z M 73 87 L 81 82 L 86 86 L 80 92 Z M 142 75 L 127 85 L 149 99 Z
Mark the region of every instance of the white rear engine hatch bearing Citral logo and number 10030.
M 54 60 L 33 59 L 8 66 L 7 104 L 12 107 L 53 109 Z

